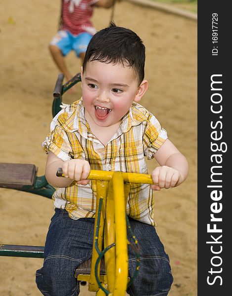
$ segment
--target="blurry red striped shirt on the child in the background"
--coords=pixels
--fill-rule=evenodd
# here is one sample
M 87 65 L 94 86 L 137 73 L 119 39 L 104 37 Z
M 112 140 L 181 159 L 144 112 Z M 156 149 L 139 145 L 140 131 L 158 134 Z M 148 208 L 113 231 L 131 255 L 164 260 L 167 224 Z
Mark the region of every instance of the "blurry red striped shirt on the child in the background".
M 95 34 L 91 22 L 93 4 L 98 0 L 62 0 L 61 30 L 68 30 L 73 35 L 82 32 Z

